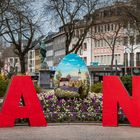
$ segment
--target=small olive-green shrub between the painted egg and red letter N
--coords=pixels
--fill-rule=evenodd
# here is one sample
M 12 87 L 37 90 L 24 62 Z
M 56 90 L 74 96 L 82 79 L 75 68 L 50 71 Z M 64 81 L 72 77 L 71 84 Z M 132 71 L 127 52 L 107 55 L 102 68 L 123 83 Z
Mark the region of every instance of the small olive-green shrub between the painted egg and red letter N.
M 101 93 L 102 92 L 102 83 L 98 82 L 98 83 L 91 85 L 90 91 L 95 92 L 95 93 Z

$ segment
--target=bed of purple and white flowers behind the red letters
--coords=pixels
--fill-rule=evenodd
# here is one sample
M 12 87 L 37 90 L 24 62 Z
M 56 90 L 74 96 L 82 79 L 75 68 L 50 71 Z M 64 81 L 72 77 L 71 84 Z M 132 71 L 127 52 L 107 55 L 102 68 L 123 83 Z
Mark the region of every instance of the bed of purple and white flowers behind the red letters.
M 54 91 L 40 93 L 47 122 L 101 122 L 102 93 L 89 93 L 84 98 L 57 98 Z M 128 122 L 122 109 L 119 109 L 119 122 Z

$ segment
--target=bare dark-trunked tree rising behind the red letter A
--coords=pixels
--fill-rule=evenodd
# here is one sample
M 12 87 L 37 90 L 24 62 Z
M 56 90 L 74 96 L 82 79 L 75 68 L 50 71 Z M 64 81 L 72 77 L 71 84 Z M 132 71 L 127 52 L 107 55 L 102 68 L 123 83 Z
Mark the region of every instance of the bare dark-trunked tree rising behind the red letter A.
M 20 2 L 20 3 L 19 3 Z M 4 14 L 4 39 L 13 44 L 13 51 L 20 59 L 21 73 L 25 73 L 25 57 L 40 41 L 35 39 L 38 31 L 38 20 L 34 21 L 29 14 L 25 1 L 12 3 Z

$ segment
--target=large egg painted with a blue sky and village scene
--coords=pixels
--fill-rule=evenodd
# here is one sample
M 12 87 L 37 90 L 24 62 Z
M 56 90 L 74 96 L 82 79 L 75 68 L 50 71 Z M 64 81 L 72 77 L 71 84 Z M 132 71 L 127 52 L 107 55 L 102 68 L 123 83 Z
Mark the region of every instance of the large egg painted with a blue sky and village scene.
M 86 97 L 89 91 L 89 71 L 77 54 L 65 56 L 54 75 L 55 94 L 58 97 Z

